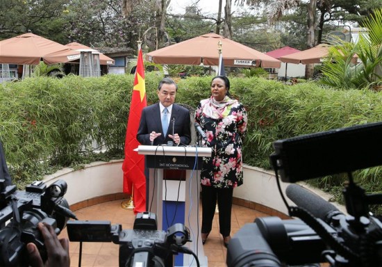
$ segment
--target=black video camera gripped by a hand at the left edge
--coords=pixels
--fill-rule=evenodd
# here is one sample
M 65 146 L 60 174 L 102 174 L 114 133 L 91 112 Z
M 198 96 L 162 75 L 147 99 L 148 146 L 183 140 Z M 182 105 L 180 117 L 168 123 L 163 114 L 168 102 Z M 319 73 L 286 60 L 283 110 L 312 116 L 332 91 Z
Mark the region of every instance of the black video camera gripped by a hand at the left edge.
M 48 187 L 34 181 L 25 191 L 17 191 L 15 185 L 5 186 L 5 180 L 0 179 L 0 191 L 0 266 L 29 266 L 27 243 L 35 243 L 42 259 L 47 259 L 38 223 L 51 225 L 59 234 L 68 218 L 75 218 L 63 198 L 65 181 L 58 180 Z

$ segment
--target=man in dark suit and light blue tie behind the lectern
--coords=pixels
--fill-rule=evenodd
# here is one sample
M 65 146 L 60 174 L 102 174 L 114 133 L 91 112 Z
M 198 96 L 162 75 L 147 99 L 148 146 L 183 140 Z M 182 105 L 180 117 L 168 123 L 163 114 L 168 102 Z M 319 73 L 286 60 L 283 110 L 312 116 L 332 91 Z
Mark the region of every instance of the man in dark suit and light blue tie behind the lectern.
M 137 140 L 142 145 L 188 145 L 191 141 L 190 112 L 174 104 L 178 86 L 170 78 L 160 81 L 159 102 L 143 108 Z M 164 132 L 166 131 L 166 132 Z

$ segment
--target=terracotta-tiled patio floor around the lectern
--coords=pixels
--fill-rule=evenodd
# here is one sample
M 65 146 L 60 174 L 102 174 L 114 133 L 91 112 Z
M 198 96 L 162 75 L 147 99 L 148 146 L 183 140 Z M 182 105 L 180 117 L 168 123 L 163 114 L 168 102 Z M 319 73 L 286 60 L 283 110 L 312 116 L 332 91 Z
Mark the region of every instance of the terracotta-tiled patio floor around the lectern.
M 97 204 L 75 211 L 78 220 L 110 220 L 112 224 L 122 225 L 122 229 L 133 229 L 135 216 L 133 211 L 123 209 L 123 200 Z M 265 213 L 233 205 L 231 236 L 244 224 L 253 223 L 256 217 L 267 216 Z M 66 228 L 60 236 L 67 236 Z M 78 266 L 79 243 L 70 243 L 71 266 Z M 114 243 L 83 243 L 83 267 L 118 267 L 119 245 Z M 204 245 L 204 254 L 208 257 L 208 266 L 226 266 L 226 248 L 219 234 L 218 216 L 215 213 L 213 230 Z

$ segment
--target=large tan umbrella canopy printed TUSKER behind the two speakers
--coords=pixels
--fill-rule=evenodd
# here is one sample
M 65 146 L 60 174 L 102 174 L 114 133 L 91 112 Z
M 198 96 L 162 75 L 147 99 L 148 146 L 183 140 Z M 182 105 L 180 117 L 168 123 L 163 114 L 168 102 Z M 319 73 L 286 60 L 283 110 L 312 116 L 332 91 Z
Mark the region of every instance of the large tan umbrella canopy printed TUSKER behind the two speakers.
M 208 33 L 185 40 L 169 47 L 152 51 L 146 59 L 158 64 L 219 65 L 217 42 L 222 42 L 224 66 L 231 67 L 280 67 L 281 61 L 267 56 L 244 44 Z

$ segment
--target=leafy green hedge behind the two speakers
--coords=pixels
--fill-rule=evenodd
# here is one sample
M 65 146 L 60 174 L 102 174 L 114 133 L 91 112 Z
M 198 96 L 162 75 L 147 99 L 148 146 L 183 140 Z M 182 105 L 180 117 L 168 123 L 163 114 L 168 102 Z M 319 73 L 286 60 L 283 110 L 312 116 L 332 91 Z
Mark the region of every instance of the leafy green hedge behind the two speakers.
M 157 102 L 161 78 L 155 72 L 146 74 L 148 104 Z M 178 79 L 176 102 L 196 107 L 200 99 L 209 97 L 211 78 Z M 1 84 L 0 139 L 13 179 L 26 184 L 40 179 L 52 166 L 81 163 L 92 140 L 122 157 L 133 79 L 133 75 L 71 75 Z M 230 81 L 231 94 L 249 114 L 244 162 L 260 168 L 270 168 L 274 140 L 382 121 L 382 92 L 331 90 L 309 82 L 286 86 L 256 77 Z M 381 170 L 357 175 L 378 181 Z

